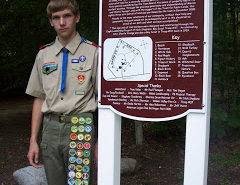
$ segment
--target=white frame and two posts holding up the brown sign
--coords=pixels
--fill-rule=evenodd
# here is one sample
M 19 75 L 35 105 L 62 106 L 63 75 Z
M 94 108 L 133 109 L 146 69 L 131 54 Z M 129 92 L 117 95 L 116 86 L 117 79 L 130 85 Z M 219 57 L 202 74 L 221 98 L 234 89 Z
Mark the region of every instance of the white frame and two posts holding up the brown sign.
M 100 0 L 99 44 L 102 44 L 102 3 Z M 121 1 L 121 0 L 119 0 Z M 184 0 L 187 2 L 188 0 Z M 111 1 L 112 3 L 116 1 Z M 122 1 L 121 1 L 122 2 Z M 187 116 L 184 185 L 206 185 L 211 104 L 212 60 L 212 0 L 204 0 L 204 56 L 203 97 L 201 110 L 188 110 L 184 114 L 165 118 L 139 118 L 128 116 L 112 106 L 102 105 L 99 85 L 98 130 L 98 185 L 120 185 L 121 116 L 140 121 L 166 121 Z M 106 11 L 106 10 L 105 10 Z M 114 14 L 112 15 L 114 16 Z M 112 39 L 114 41 L 114 39 Z M 124 42 L 122 42 L 124 43 Z M 160 42 L 159 42 L 160 43 Z M 110 46 L 111 42 L 107 42 Z M 108 47 L 109 47 L 108 46 Z M 111 49 L 111 47 L 109 47 Z M 99 84 L 102 80 L 102 46 L 100 46 Z M 105 51 L 106 52 L 106 51 Z M 114 64 L 113 64 L 114 65 Z M 106 95 L 107 96 L 107 95 Z M 159 182 L 161 183 L 161 182 Z

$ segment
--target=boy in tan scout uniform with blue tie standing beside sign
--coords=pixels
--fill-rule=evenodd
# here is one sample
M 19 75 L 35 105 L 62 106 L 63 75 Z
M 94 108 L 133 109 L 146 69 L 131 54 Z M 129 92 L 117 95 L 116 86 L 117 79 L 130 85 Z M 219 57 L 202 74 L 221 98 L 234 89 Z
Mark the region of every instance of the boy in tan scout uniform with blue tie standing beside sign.
M 90 124 L 91 113 L 97 107 L 97 46 L 76 31 L 80 20 L 76 0 L 50 0 L 47 13 L 57 37 L 55 42 L 40 48 L 26 89 L 27 94 L 35 97 L 27 157 L 32 166 L 40 167 L 37 137 L 43 120 L 41 148 L 48 184 L 73 184 L 75 176 L 76 183 L 88 184 L 88 174 L 82 171 L 84 168 L 78 165 L 81 173 L 74 172 L 77 159 L 73 156 L 82 153 L 79 150 L 76 154 L 74 149 L 69 151 L 69 146 L 75 148 L 74 140 L 77 137 L 81 140 L 80 134 L 76 134 L 78 127 L 72 125 L 78 122 Z M 91 126 L 86 128 L 86 132 L 91 130 Z M 89 141 L 91 136 L 87 134 L 85 139 Z M 89 148 L 90 143 L 86 142 L 84 147 Z M 79 143 L 77 146 L 81 147 Z M 89 153 L 84 151 L 84 156 Z M 89 160 L 85 162 L 87 172 Z M 80 177 L 83 177 L 82 182 Z

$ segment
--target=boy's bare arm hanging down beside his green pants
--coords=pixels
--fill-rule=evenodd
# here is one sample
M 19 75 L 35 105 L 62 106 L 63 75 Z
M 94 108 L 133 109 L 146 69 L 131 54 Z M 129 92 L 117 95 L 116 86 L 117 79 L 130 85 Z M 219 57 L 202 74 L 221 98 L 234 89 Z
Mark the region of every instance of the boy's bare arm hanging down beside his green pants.
M 38 146 L 37 138 L 38 138 L 40 126 L 42 124 L 43 114 L 41 112 L 41 109 L 42 109 L 43 101 L 44 101 L 43 99 L 35 98 L 33 102 L 33 109 L 32 109 L 31 138 L 30 138 L 30 145 L 29 145 L 27 157 L 28 157 L 29 163 L 35 168 L 40 167 L 38 163 L 39 146 Z

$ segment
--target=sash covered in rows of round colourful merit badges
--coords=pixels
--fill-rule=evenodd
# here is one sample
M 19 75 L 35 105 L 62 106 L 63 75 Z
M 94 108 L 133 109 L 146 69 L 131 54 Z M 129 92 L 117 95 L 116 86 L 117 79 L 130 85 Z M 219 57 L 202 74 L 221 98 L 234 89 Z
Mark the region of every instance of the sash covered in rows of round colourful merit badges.
M 69 185 L 90 185 L 93 169 L 94 124 L 91 113 L 71 118 L 69 143 Z M 91 173 L 90 173 L 91 172 Z

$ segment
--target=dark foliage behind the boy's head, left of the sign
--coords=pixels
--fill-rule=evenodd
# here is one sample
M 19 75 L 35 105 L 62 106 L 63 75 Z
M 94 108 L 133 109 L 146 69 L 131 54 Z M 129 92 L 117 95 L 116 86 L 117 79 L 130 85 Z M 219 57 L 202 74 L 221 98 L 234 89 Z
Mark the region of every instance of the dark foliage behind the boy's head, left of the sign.
M 0 2 L 0 95 L 24 93 L 38 48 L 55 39 L 48 22 L 49 0 Z M 79 1 L 81 20 L 77 30 L 86 39 L 98 40 L 98 0 Z

